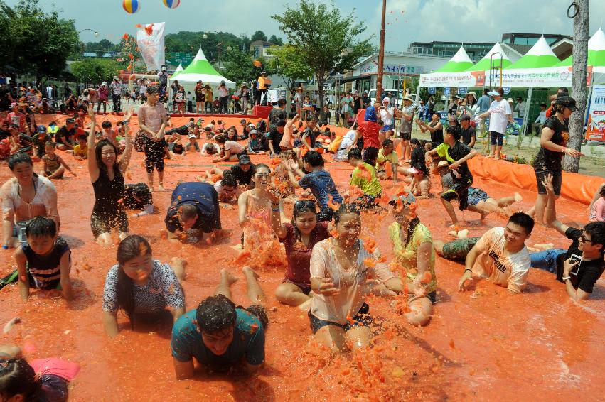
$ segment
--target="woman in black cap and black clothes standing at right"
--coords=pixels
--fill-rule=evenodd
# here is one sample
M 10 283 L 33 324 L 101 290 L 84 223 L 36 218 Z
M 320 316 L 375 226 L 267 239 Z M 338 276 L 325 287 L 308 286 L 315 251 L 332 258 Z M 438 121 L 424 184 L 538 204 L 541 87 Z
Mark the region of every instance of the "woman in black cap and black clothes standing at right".
M 552 187 L 555 193 L 552 200 L 554 202 L 561 195 L 562 157 L 565 154 L 572 156 L 572 158 L 582 156 L 582 153 L 574 148 L 566 147 L 569 138 L 567 121 L 572 112 L 577 110 L 575 99 L 572 97 L 558 97 L 552 110 L 555 114 L 544 123 L 540 136 L 540 151 L 535 156 L 533 163 L 538 192 L 535 203 L 535 219 L 540 223 L 544 222 L 544 210 L 548 207 L 547 202 L 551 202 L 547 197 L 544 185 L 547 175 L 552 175 Z

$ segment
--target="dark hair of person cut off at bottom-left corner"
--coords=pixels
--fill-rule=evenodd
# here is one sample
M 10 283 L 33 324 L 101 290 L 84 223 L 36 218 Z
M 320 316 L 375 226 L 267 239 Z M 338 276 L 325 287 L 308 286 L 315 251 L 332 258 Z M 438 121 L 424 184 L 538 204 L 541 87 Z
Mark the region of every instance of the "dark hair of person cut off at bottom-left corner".
M 41 387 L 40 378 L 26 359 L 0 359 L 0 396 L 9 399 L 23 395 L 23 401 L 37 401 Z

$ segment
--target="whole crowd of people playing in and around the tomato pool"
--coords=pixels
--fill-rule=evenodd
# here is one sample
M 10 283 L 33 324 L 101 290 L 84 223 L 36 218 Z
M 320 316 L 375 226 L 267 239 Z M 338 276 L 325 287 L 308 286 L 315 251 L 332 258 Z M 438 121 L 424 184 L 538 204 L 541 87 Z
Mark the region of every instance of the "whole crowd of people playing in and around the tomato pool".
M 208 88 L 201 83 L 198 87 L 205 90 L 200 95 L 196 92 L 199 111 L 205 107 Z M 111 88 L 103 94 L 94 89 L 97 112 L 109 94 L 117 94 Z M 110 246 L 112 232 L 119 235 L 117 264 L 107 271 L 100 322 L 107 335 L 114 337 L 119 333 L 119 310 L 126 313 L 131 327 L 141 317 L 167 315 L 173 325 L 171 353 L 177 379 L 194 376 L 194 359 L 209 371 L 240 366 L 252 373 L 262 368 L 271 312 L 258 271 L 269 265 L 284 269 L 275 298 L 306 311 L 314 339 L 335 353 L 370 347 L 375 322 L 369 295 L 390 298 L 409 325 L 429 325 L 433 310 L 439 308 L 436 255 L 464 261 L 460 290 L 473 279 L 483 279 L 510 293 L 523 293 L 533 267 L 554 273 L 573 300 L 589 298 L 605 269 L 605 187 L 591 204 L 594 222 L 574 228 L 557 220 L 561 158 L 581 156 L 566 147 L 567 119 L 576 109 L 567 94 L 555 99 L 543 124 L 534 162 L 539 195 L 535 208 L 525 213 L 511 207 L 522 200 L 520 195 L 491 198 L 473 187 L 468 165 L 478 155 L 470 123 L 476 119 L 490 118 L 490 156 L 499 156 L 503 129 L 510 121 L 502 88 L 485 92 L 493 97 L 487 109 L 484 99 L 469 94 L 464 113 L 459 119 L 451 116 L 455 121 L 446 128 L 430 112 L 432 120 L 424 123 L 410 97 L 404 97 L 400 107 L 391 107 L 387 97 L 368 104 L 367 94 L 353 94 L 350 101 L 341 102 L 339 113 L 349 121 L 350 115 L 365 109 L 363 120 L 355 121 L 338 138 L 329 128 L 321 131 L 314 114 L 304 113 L 304 99 L 299 108 L 298 93 L 291 113 L 285 110 L 285 99 L 280 99 L 268 119 L 257 124 L 242 119 L 240 130 L 220 120 L 204 125 L 201 118 L 173 127 L 162 103 L 165 90 L 161 85 L 145 88 L 136 133 L 130 129 L 132 110 L 113 127 L 107 120 L 98 121 L 95 108 L 90 107 L 95 102 L 90 102 L 85 115 L 67 119 L 52 132 L 36 126 L 35 114 L 28 120 L 18 104 L 7 108 L 11 110 L 6 116 L 9 127 L 16 132 L 11 137 L 17 139 L 8 159 L 14 177 L 0 189 L 2 248 L 14 249 L 17 270 L 2 278 L 1 286 L 17 283 L 14 291 L 23 300 L 34 288 L 60 291 L 67 300 L 75 297 L 70 279 L 72 251 L 60 236 L 59 194 L 53 181 L 61 180 L 65 170 L 75 175 L 70 158 L 87 160 L 95 195 L 92 236 Z M 223 97 L 223 92 L 219 94 Z M 398 130 L 392 125 L 395 117 L 402 121 Z M 423 132 L 430 132 L 431 141 L 412 138 L 414 122 Z M 180 144 L 181 135 L 187 136 L 188 143 Z M 132 180 L 127 178 L 127 169 L 134 151 L 144 153 L 147 175 L 140 183 L 126 183 Z M 165 191 L 164 160 L 183 153 L 199 153 L 207 163 L 236 164 L 227 169 L 215 165 L 195 181 L 178 183 L 170 203 L 154 208 L 152 195 Z M 328 153 L 333 153 L 333 161 L 326 161 Z M 257 154 L 269 156 L 270 163 L 253 163 Z M 43 162 L 39 174 L 34 171 L 38 158 Z M 348 183 L 335 182 L 326 167 L 329 162 L 347 162 L 353 168 Z M 395 194 L 387 194 L 385 180 L 396 184 Z M 432 181 L 441 190 L 434 189 Z M 451 219 L 454 241 L 434 239 L 421 222 L 426 211 L 418 199 L 434 195 Z M 129 231 L 129 219 L 165 209 L 165 241 L 178 244 L 205 238 L 212 242 L 225 235 L 221 203 L 237 205 L 242 228 L 237 260 L 242 261 L 250 305 L 235 305 L 231 286 L 237 276 L 223 268 L 213 295 L 188 308 L 181 285 L 186 281 L 187 261 L 154 259 L 149 241 Z M 292 206 L 291 216 L 284 208 L 287 204 Z M 480 237 L 468 237 L 468 230 L 460 229 L 455 206 L 477 212 L 481 219 L 496 212 L 507 222 Z M 138 212 L 129 218 L 127 210 Z M 362 213 L 392 216 L 394 222 L 384 228 L 390 244 L 380 244 L 382 249 L 392 248 L 390 264 L 375 239 L 363 236 Z M 569 249 L 528 247 L 535 222 L 571 240 Z M 285 259 L 278 261 L 282 253 Z M 36 384 L 43 377 L 32 376 L 32 367 L 18 349 L 0 347 L 0 394 L 11 400 L 18 394 L 29 395 L 34 388 L 41 392 Z M 65 396 L 73 375 L 45 382 L 49 395 Z M 10 381 L 5 380 L 9 377 Z

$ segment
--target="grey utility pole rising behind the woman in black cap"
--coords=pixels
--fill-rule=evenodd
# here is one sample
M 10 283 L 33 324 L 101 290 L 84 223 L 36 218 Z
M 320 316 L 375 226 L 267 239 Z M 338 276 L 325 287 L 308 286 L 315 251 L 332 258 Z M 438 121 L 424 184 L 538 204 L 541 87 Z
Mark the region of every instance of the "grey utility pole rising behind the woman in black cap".
M 584 136 L 584 115 L 587 104 L 587 60 L 588 60 L 588 25 L 590 0 L 574 0 L 567 16 L 574 18 L 574 65 L 572 67 L 572 97 L 576 99 L 577 111 L 569 117 L 569 148 L 580 150 Z M 563 170 L 577 173 L 580 157 L 566 155 Z

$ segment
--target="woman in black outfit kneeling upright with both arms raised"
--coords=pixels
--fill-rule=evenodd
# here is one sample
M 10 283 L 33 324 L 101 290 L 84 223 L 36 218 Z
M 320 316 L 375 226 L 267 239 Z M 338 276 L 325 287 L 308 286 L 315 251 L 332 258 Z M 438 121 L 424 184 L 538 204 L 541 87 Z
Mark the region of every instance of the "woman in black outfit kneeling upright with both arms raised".
M 95 112 L 89 108 L 90 131 L 88 134 L 88 172 L 92 188 L 95 190 L 95 206 L 90 215 L 92 235 L 97 243 L 108 246 L 112 244 L 111 231 L 119 228 L 119 238 L 128 236 L 128 217 L 124 212 L 122 200 L 124 197 L 124 172 L 128 168 L 132 155 L 132 138 L 128 129 L 131 109 L 124 116 L 124 133 L 126 148 L 122 158 L 117 158 L 117 148 L 107 139 L 99 141 L 95 146 Z

